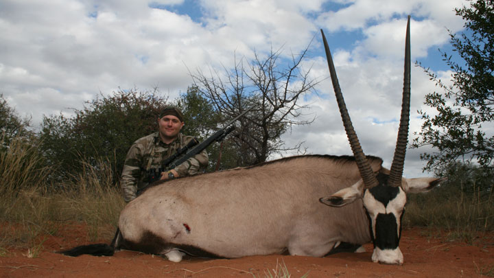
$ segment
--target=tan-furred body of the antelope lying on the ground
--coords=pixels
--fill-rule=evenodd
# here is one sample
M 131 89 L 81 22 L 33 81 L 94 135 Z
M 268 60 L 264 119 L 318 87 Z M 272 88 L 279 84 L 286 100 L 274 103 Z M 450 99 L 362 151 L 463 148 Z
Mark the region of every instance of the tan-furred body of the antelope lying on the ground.
M 380 169 L 381 159 L 370 162 L 375 171 Z M 336 242 L 371 240 L 361 200 L 342 208 L 318 201 L 359 179 L 353 159 L 329 156 L 178 178 L 130 202 L 119 227 L 131 242 L 150 231 L 170 244 L 196 246 L 221 257 L 285 250 L 318 257 Z

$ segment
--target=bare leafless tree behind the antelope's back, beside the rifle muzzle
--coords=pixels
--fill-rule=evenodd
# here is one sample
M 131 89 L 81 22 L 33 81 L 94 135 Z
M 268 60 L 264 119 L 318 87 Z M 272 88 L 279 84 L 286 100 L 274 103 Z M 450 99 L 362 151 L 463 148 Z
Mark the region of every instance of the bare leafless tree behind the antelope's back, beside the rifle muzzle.
M 318 84 L 309 78 L 311 68 L 306 71 L 301 68 L 309 46 L 300 54 L 292 54 L 291 59 L 283 59 L 281 49 L 271 49 L 266 58 L 255 52 L 248 65 L 244 65 L 245 58 L 237 62 L 235 55 L 233 69 L 223 67 L 222 73 L 213 69 L 208 75 L 200 69 L 191 73 L 202 95 L 225 117 L 235 117 L 254 106 L 239 121 L 233 136 L 241 160 L 239 165 L 261 163 L 272 154 L 300 150 L 303 142 L 287 147 L 281 135 L 294 125 L 314 121 L 314 118 L 301 119 L 307 105 L 299 102 Z

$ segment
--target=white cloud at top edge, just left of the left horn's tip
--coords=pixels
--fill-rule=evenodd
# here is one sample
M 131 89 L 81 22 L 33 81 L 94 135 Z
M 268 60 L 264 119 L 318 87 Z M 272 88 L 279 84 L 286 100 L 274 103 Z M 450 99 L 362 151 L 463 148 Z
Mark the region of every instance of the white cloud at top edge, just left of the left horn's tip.
M 248 49 L 268 51 L 271 45 L 278 49 L 287 43 L 288 47 L 301 49 L 307 46 L 311 31 L 315 29 L 314 23 L 301 13 L 301 5 L 293 5 L 290 1 L 286 5 L 261 0 L 204 3 L 211 15 L 207 29 L 226 41 L 245 43 Z M 316 2 L 314 6 L 318 5 Z

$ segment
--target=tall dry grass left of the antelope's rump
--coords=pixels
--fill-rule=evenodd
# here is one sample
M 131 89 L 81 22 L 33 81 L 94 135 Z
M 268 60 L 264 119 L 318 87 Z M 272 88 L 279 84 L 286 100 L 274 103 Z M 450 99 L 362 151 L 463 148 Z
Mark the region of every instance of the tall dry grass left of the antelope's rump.
M 0 251 L 23 247 L 35 257 L 43 237 L 56 235 L 68 220 L 85 222 L 90 240 L 111 238 L 124 201 L 111 181 L 109 163 L 84 163 L 83 174 L 65 184 L 69 190 L 55 191 L 54 185 L 45 183 L 55 173 L 43 168 L 40 157 L 36 148 L 21 140 L 0 153 Z M 113 224 L 112 231 L 108 224 Z

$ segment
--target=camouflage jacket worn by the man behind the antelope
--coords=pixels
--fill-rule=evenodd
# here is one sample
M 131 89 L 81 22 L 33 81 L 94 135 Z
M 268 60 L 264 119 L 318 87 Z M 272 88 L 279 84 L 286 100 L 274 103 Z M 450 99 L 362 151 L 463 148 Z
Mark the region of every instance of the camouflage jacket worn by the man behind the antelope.
M 163 167 L 161 163 L 172 156 L 179 148 L 187 145 L 193 137 L 178 134 L 177 139 L 166 144 L 161 141 L 158 132 L 142 137 L 134 142 L 127 153 L 122 170 L 120 185 L 124 194 L 124 200 L 130 202 L 137 197 L 137 190 L 149 183 L 148 171 L 152 168 Z M 151 157 L 152 155 L 152 157 Z M 208 156 L 203 150 L 196 156 L 187 159 L 184 163 L 174 168 L 179 176 L 197 174 L 200 168 L 207 167 Z M 167 169 L 171 170 L 171 169 Z

